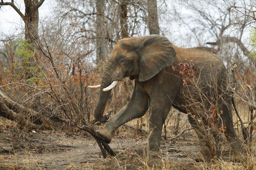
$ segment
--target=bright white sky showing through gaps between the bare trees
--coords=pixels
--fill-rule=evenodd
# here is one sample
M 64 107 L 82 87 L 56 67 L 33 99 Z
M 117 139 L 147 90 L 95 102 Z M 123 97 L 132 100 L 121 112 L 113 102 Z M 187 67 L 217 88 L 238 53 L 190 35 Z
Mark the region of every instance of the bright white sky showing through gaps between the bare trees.
M 11 0 L 4 0 L 4 2 L 9 2 Z M 220 0 L 219 0 L 220 1 Z M 186 4 L 183 3 L 183 1 L 166 1 L 168 2 L 167 5 L 169 6 L 170 10 L 173 10 L 174 6 L 177 7 L 180 11 L 183 12 L 183 15 L 186 16 L 186 14 L 189 14 L 189 10 L 193 9 L 192 5 L 195 3 L 198 7 L 208 7 L 209 10 L 211 10 L 212 6 L 210 3 L 208 4 L 208 1 L 191 1 L 193 4 Z M 198 3 L 199 2 L 199 3 Z M 211 2 L 211 1 L 209 1 Z M 222 2 L 222 1 L 220 1 Z M 58 10 L 58 0 L 45 0 L 42 6 L 39 8 L 39 20 L 43 21 L 45 17 L 49 16 L 49 13 L 54 12 L 55 10 Z M 25 5 L 24 0 L 15 0 L 15 5 L 20 8 L 20 11 L 22 13 L 25 13 Z M 214 12 L 214 10 L 212 10 Z M 189 20 L 189 19 L 188 19 Z M 189 32 L 188 28 L 186 27 L 179 27 L 179 26 L 172 26 L 172 20 L 169 20 L 168 17 L 165 18 L 164 22 L 160 22 L 160 26 L 162 27 L 162 30 L 164 30 L 165 36 L 169 38 L 172 42 L 175 42 L 176 44 L 188 44 L 186 40 L 189 40 L 191 36 L 191 32 Z M 166 24 L 169 23 L 169 24 Z M 170 28 L 172 26 L 173 28 Z M 17 35 L 21 31 L 23 31 L 24 22 L 17 14 L 17 12 L 11 7 L 11 6 L 2 6 L 0 9 L 0 40 L 3 40 L 6 38 L 6 36 Z M 244 32 L 243 37 L 247 37 L 247 31 Z M 212 36 L 209 35 L 209 33 L 205 33 L 206 35 L 201 35 L 202 40 L 201 43 L 204 43 L 204 41 L 214 42 L 215 40 L 212 40 Z M 193 36 L 193 35 L 192 35 Z M 204 36 L 204 37 L 203 37 Z M 207 37 L 209 36 L 209 37 Z M 194 38 L 194 37 L 191 37 Z M 190 46 L 195 46 L 197 43 L 193 43 L 190 41 Z

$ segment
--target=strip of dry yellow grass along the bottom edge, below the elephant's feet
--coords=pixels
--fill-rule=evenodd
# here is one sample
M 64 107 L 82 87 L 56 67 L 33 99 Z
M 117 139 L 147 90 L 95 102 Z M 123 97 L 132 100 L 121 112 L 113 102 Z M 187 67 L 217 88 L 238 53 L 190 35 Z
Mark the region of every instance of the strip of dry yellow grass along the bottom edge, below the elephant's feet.
M 85 166 L 88 169 L 105 170 L 255 170 L 255 150 L 247 153 L 244 162 L 231 162 L 215 159 L 212 162 L 195 162 L 193 159 L 175 161 L 169 159 L 150 158 L 149 161 L 141 158 L 130 150 L 124 150 L 117 157 L 108 158 L 105 161 L 97 161 L 95 164 Z M 172 158 L 173 159 L 173 158 Z M 95 165 L 98 166 L 95 166 Z

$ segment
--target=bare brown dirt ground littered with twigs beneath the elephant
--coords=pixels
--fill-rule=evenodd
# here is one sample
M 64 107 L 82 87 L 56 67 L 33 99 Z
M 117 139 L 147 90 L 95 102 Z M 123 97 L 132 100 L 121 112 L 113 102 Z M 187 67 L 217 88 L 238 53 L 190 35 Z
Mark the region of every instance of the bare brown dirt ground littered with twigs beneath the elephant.
M 136 153 L 146 145 L 146 135 L 127 127 L 110 144 L 118 155 L 104 159 L 99 146 L 87 133 L 20 131 L 13 122 L 1 124 L 3 121 L 8 120 L 0 119 L 0 170 L 199 170 L 205 167 L 205 163 L 193 160 L 200 146 L 192 132 L 178 140 L 163 139 L 163 159 L 151 158 L 147 163 Z

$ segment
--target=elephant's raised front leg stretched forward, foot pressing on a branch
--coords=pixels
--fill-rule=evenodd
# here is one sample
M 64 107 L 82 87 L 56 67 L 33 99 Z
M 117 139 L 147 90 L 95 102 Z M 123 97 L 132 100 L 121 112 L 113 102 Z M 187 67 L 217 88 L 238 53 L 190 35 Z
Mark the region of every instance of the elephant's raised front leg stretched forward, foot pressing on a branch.
M 112 133 L 121 125 L 132 119 L 142 117 L 148 110 L 148 95 L 144 93 L 143 88 L 135 86 L 131 100 L 106 124 L 105 128 L 98 130 L 107 143 L 111 142 Z

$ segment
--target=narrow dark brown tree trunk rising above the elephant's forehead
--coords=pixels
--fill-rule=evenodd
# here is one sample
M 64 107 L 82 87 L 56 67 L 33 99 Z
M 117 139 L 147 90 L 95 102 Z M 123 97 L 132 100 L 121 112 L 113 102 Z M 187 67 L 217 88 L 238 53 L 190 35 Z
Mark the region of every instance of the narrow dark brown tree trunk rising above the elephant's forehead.
M 121 37 L 127 38 L 128 36 L 128 25 L 127 25 L 127 2 L 123 0 L 119 5 L 119 16 L 120 16 L 120 26 L 121 26 Z

